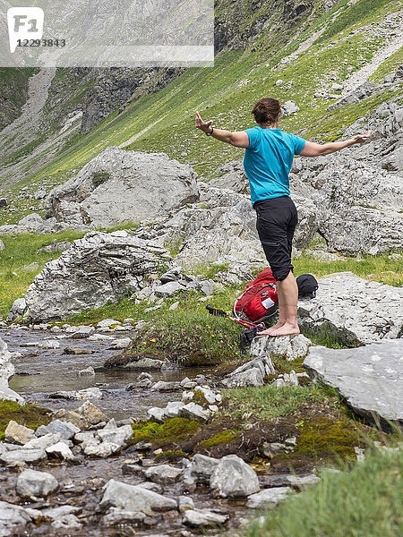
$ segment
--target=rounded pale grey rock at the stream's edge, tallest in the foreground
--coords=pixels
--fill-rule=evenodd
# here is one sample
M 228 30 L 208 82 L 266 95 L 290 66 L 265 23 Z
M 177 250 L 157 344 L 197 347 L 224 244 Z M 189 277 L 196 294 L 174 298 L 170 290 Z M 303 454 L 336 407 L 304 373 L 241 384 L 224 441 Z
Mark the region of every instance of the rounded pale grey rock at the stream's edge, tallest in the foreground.
M 251 466 L 236 455 L 219 460 L 210 478 L 210 489 L 223 498 L 249 496 L 260 490 L 259 479 Z

